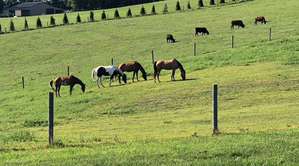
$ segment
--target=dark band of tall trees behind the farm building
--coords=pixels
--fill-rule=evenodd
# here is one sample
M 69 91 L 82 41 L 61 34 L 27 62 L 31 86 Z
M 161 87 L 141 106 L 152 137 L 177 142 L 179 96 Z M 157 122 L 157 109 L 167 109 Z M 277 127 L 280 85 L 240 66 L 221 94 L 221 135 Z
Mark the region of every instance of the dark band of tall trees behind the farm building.
M 72 10 L 94 10 L 122 7 L 162 0 L 0 0 L 0 12 L 23 2 L 45 2 L 55 7 Z

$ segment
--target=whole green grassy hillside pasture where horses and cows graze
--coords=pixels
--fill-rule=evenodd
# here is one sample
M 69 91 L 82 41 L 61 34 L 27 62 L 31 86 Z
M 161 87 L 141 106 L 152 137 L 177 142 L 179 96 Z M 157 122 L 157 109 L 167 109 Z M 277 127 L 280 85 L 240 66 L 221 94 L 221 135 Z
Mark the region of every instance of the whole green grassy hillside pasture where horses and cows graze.
M 165 2 L 174 8 L 176 0 L 154 3 L 158 13 Z M 197 1 L 190 2 L 195 8 Z M 145 4 L 148 11 L 151 6 Z M 131 7 L 134 14 L 141 5 Z M 0 165 L 298 165 L 298 0 L 194 8 L 0 34 Z M 122 16 L 128 7 L 118 10 Z M 256 15 L 271 22 L 254 26 Z M 232 19 L 243 20 L 245 28 L 230 30 Z M 7 20 L 0 18 L 0 24 Z M 22 21 L 15 23 L 22 27 Z M 210 34 L 195 37 L 195 27 Z M 166 34 L 177 42 L 166 43 Z M 171 71 L 162 70 L 162 82 L 153 83 L 151 50 L 155 60 L 176 58 L 187 80 L 177 71 L 171 82 Z M 98 88 L 91 70 L 110 65 L 111 58 L 114 64 L 140 62 L 148 81 L 140 75 L 141 81 L 132 83 L 127 73 L 127 84 Z M 49 146 L 48 83 L 66 75 L 67 66 L 86 91 L 76 85 L 70 96 L 69 87 L 61 87 L 62 97 L 54 98 L 55 143 Z M 218 84 L 217 135 L 212 134 L 213 83 Z

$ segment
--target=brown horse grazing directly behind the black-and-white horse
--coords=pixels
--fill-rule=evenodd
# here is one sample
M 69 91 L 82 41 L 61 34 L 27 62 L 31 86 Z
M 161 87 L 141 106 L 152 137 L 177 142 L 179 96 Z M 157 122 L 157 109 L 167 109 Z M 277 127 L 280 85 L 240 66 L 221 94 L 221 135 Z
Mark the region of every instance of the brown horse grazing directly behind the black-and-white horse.
M 147 73 L 144 70 L 144 68 L 138 63 L 137 61 L 129 62 L 129 63 L 122 63 L 117 66 L 121 71 L 123 72 L 133 72 L 133 82 L 134 82 L 134 77 L 136 74 L 137 81 L 138 80 L 138 71 L 140 70 L 142 73 L 142 77 L 147 81 Z M 118 83 L 121 83 L 121 76 L 118 78 Z

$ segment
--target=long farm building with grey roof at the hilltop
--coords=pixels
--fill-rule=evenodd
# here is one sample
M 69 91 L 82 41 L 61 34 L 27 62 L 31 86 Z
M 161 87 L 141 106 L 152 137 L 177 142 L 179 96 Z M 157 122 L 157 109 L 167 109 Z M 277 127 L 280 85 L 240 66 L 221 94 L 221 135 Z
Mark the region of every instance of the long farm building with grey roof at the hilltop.
M 63 13 L 63 9 L 44 2 L 24 2 L 12 7 L 3 8 L 3 16 L 9 16 L 9 13 L 13 16 L 31 16 Z

